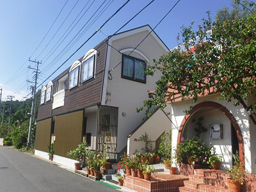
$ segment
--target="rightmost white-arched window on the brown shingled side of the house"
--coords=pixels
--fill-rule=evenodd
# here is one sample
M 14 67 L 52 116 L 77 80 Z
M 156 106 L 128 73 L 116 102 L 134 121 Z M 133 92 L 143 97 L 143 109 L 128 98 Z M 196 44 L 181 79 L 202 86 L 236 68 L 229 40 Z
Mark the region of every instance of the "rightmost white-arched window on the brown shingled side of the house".
M 95 55 L 84 61 L 82 68 L 82 81 L 93 78 Z

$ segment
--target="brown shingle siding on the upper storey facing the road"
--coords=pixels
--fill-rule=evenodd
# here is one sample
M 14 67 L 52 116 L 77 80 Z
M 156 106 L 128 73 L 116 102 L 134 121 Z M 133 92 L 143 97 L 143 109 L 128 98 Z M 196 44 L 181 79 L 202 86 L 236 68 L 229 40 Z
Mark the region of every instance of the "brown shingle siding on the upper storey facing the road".
M 79 83 L 79 86 L 73 88 L 71 90 L 65 91 L 65 100 L 64 106 L 53 109 L 52 110 L 52 103 L 45 104 L 40 106 L 38 109 L 38 120 L 44 119 L 48 116 L 60 115 L 62 113 L 67 113 L 70 111 L 76 111 L 77 109 L 86 108 L 86 106 L 90 106 L 92 104 L 96 104 L 100 102 L 101 92 L 102 92 L 102 83 L 104 78 L 104 66 L 106 60 L 106 47 L 107 45 L 104 43 L 103 40 L 99 45 L 94 47 L 99 54 L 97 55 L 97 63 L 95 65 L 95 78 L 90 79 L 84 83 Z M 83 56 L 84 57 L 84 56 Z M 79 59 L 79 61 L 83 60 L 83 57 Z M 64 72 L 62 72 L 58 77 L 52 80 L 54 84 L 54 88 L 52 93 L 56 93 L 56 83 L 58 79 L 69 72 L 70 67 L 68 67 Z M 81 71 L 79 78 L 81 78 Z M 69 73 L 68 73 L 69 79 Z M 69 81 L 68 81 L 69 83 Z M 69 85 L 68 85 L 69 86 Z M 52 94 L 52 95 L 53 95 Z

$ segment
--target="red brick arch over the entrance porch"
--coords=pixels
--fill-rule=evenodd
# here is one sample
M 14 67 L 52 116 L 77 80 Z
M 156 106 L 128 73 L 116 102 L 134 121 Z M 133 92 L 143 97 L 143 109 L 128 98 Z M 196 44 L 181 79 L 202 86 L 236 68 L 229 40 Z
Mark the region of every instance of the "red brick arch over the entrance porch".
M 223 114 L 225 114 L 227 116 L 227 118 L 230 120 L 231 124 L 234 126 L 234 129 L 236 130 L 237 139 L 238 139 L 238 145 L 239 145 L 239 159 L 240 159 L 241 162 L 244 163 L 244 141 L 243 141 L 243 136 L 242 136 L 241 129 L 240 129 L 239 125 L 237 124 L 236 119 L 228 111 L 228 109 L 225 108 L 225 106 L 222 106 L 221 104 L 218 104 L 217 102 L 212 102 L 212 101 L 201 102 L 199 104 L 196 104 L 196 106 L 194 106 L 191 109 L 191 111 L 189 111 L 189 114 L 187 114 L 183 118 L 182 123 L 180 124 L 177 144 L 180 143 L 182 132 L 183 132 L 183 130 L 184 130 L 184 128 L 186 126 L 186 123 L 188 122 L 189 118 L 196 111 L 198 111 L 199 109 L 201 109 L 201 108 L 209 108 L 209 107 L 210 108 L 216 108 L 216 109 L 220 110 Z

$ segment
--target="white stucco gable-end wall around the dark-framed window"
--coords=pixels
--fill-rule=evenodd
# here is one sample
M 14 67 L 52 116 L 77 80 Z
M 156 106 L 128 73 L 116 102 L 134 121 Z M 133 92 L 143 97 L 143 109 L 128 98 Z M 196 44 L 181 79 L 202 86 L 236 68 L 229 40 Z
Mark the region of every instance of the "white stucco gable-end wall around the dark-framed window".
M 147 29 L 149 28 L 147 27 Z M 149 33 L 149 31 L 145 31 L 145 28 L 135 31 L 138 33 L 132 35 L 134 31 L 129 31 L 114 36 L 109 41 L 109 44 L 113 45 L 119 51 L 134 48 Z M 168 51 L 166 47 L 164 48 L 161 43 L 157 42 L 156 36 L 153 34 L 149 35 L 137 49 L 149 60 L 147 65 L 153 65 L 153 59 L 158 60 L 162 54 Z M 124 52 L 124 54 L 129 53 L 129 51 Z M 131 56 L 146 60 L 146 58 L 143 58 L 136 52 L 132 52 Z M 141 124 L 141 118 L 145 117 L 145 112 L 137 113 L 136 108 L 143 106 L 143 100 L 148 99 L 148 90 L 155 90 L 155 82 L 161 77 L 161 74 L 156 74 L 154 77 L 147 77 L 146 84 L 123 79 L 121 77 L 122 64 L 118 65 L 122 61 L 122 54 L 108 47 L 107 57 L 102 104 L 105 101 L 105 104 L 108 106 L 118 107 L 117 152 L 120 152 L 127 145 L 127 136 Z M 118 67 L 111 71 L 112 80 L 109 80 L 108 70 L 111 70 L 116 65 Z M 106 94 L 107 90 L 110 95 Z M 123 112 L 125 116 L 122 116 Z

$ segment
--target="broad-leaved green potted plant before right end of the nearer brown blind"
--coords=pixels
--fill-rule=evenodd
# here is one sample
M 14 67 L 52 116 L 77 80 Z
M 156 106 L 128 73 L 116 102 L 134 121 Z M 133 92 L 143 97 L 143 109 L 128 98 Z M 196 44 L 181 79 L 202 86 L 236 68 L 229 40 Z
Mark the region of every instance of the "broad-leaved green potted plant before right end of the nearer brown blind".
M 77 160 L 77 163 L 75 163 L 75 170 L 81 169 L 81 160 L 82 157 L 86 154 L 86 147 L 87 143 L 81 143 L 75 148 L 74 150 L 70 150 L 70 152 L 67 153 L 67 156 L 69 157 L 75 157 Z

